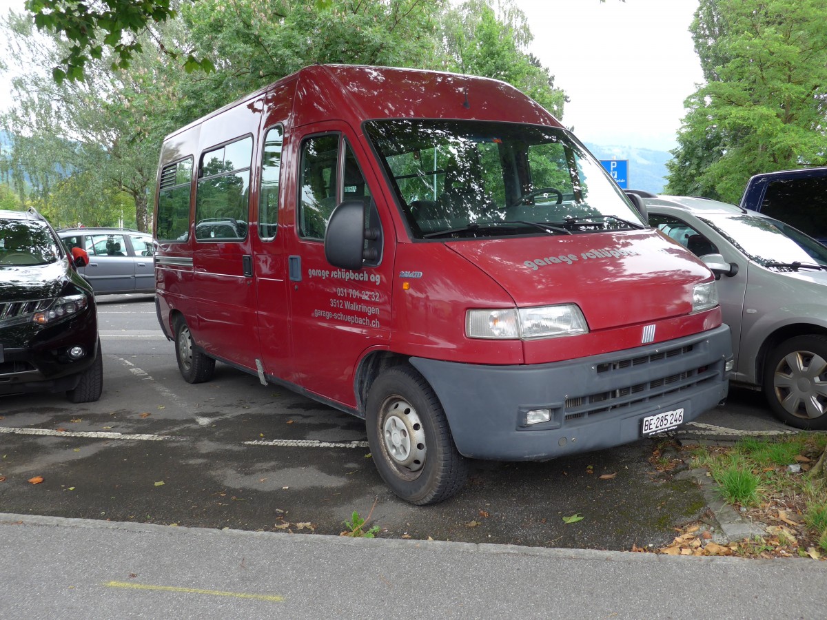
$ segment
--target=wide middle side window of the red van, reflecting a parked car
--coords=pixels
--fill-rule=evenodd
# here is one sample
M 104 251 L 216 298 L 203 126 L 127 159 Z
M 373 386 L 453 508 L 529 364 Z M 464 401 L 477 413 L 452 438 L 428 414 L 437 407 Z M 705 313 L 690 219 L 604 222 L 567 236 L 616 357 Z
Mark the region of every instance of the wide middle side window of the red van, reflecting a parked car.
M 241 241 L 247 236 L 253 139 L 204 151 L 195 195 L 197 241 Z

